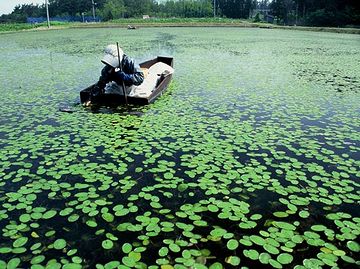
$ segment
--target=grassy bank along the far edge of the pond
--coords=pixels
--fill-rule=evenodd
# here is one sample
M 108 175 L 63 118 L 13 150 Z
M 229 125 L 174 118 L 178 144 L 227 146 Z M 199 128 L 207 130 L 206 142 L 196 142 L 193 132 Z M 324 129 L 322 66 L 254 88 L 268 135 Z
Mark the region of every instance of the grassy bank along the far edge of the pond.
M 304 27 L 283 26 L 270 23 L 254 23 L 250 20 L 234 20 L 224 18 L 154 18 L 154 19 L 118 19 L 101 23 L 64 23 L 51 22 L 52 29 L 59 28 L 116 28 L 116 27 L 253 27 L 267 29 L 287 29 L 301 31 L 318 31 L 346 34 L 360 34 L 359 28 L 331 28 L 331 27 Z M 46 23 L 40 24 L 0 24 L 1 32 L 12 32 L 21 30 L 44 30 Z

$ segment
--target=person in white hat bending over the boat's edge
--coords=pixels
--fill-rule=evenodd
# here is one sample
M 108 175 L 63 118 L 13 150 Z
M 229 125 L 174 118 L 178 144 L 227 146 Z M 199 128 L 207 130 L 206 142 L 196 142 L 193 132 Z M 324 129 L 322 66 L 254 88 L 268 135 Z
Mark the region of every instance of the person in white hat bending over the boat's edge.
M 119 52 L 119 53 L 118 53 Z M 138 86 L 144 81 L 144 73 L 135 61 L 124 54 L 117 45 L 108 45 L 104 50 L 104 57 L 101 62 L 105 64 L 101 70 L 101 76 L 92 90 L 92 97 L 102 94 L 105 85 L 114 81 L 119 87 L 125 85 L 125 90 L 130 86 Z M 121 66 L 119 66 L 119 62 Z

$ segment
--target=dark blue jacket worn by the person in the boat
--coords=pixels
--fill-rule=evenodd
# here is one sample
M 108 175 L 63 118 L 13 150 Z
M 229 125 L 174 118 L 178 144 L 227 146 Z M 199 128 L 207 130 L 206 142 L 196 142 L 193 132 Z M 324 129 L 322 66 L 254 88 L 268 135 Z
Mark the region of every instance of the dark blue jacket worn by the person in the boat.
M 140 66 L 135 64 L 135 61 L 125 54 L 121 61 L 121 70 L 115 72 L 112 66 L 105 65 L 101 70 L 98 86 L 104 88 L 106 83 L 110 81 L 115 81 L 120 86 L 123 82 L 126 86 L 138 86 L 144 81 L 144 73 L 141 71 Z

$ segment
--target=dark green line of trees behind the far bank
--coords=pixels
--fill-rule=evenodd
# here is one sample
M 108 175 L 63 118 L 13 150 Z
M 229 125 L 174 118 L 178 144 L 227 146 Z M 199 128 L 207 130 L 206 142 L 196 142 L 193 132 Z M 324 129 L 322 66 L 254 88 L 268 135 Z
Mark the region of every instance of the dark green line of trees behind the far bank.
M 94 3 L 94 5 L 93 5 Z M 215 7 L 214 7 L 215 3 Z M 151 17 L 234 19 L 270 17 L 285 25 L 344 26 L 360 25 L 360 0 L 49 0 L 49 12 L 55 16 L 96 16 L 103 21 Z M 45 4 L 15 7 L 0 22 L 26 22 L 27 17 L 45 17 Z

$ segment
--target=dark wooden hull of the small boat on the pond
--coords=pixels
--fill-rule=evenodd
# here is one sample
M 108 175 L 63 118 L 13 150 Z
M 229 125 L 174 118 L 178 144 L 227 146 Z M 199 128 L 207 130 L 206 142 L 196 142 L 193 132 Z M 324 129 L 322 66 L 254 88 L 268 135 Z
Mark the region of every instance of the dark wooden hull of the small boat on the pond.
M 154 64 L 162 62 L 171 67 L 173 67 L 174 59 L 173 57 L 164 57 L 158 56 L 154 59 L 148 60 L 146 62 L 140 63 L 140 68 L 149 69 Z M 136 104 L 136 105 L 147 105 L 155 101 L 156 98 L 161 96 L 169 86 L 172 79 L 172 74 L 168 74 L 166 76 L 161 76 L 157 82 L 155 89 L 151 92 L 151 94 L 147 97 L 136 97 L 136 96 L 127 96 L 128 104 Z M 80 101 L 81 103 L 86 103 L 90 100 L 91 90 L 95 87 L 96 84 L 87 87 L 86 89 L 80 91 Z M 92 104 L 99 105 L 120 105 L 125 104 L 125 96 L 120 94 L 100 94 L 96 97 L 91 98 Z

